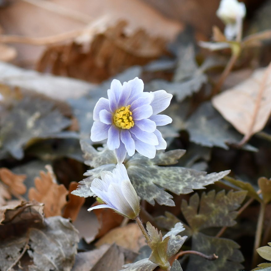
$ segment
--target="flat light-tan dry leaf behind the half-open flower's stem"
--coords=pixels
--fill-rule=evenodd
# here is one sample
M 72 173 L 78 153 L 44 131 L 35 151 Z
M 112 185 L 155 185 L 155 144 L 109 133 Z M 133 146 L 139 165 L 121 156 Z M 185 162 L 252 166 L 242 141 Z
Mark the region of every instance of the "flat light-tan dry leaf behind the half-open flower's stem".
M 112 229 L 100 238 L 95 245 L 100 247 L 103 244 L 112 243 L 116 243 L 117 245 L 132 250 L 133 252 L 138 252 L 142 246 L 146 245 L 146 239 L 138 225 L 136 223 L 130 223 L 125 227 Z

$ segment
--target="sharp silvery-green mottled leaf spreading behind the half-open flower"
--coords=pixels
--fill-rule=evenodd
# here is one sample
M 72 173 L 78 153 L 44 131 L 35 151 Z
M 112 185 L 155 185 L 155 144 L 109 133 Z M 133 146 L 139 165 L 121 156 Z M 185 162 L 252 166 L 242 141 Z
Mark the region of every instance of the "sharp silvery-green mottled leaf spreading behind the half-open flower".
M 95 150 L 87 141 L 81 141 L 81 144 L 85 159 L 87 159 L 85 163 L 95 168 L 84 174 L 89 177 L 79 182 L 82 186 L 78 187 L 73 194 L 80 197 L 90 197 L 93 195 L 89 189 L 92 180 L 100 178 L 101 171 L 112 170 L 116 165 L 116 157 L 113 151 L 108 150 L 107 146 Z M 127 157 L 125 167 L 138 196 L 151 205 L 157 201 L 160 205 L 174 206 L 174 201 L 171 200 L 172 196 L 164 191 L 165 189 L 177 195 L 191 193 L 193 189 L 203 189 L 206 185 L 213 184 L 230 172 L 221 171 L 207 174 L 204 171 L 184 167 L 159 166 L 176 163 L 176 159 L 183 154 L 184 150 L 172 150 L 169 153 L 158 150 L 154 159 L 149 159 L 138 153 L 131 158 Z

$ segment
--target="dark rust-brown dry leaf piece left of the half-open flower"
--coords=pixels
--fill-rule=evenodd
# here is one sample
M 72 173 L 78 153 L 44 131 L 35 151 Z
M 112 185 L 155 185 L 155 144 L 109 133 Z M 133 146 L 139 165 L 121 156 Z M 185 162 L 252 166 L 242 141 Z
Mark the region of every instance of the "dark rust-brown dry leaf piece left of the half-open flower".
M 75 190 L 77 188 L 77 186 L 78 186 L 77 182 L 70 183 L 70 185 L 69 185 L 69 201 L 68 201 L 67 205 L 65 206 L 65 209 L 64 209 L 63 215 L 62 215 L 62 217 L 64 217 L 64 218 L 70 218 L 72 222 L 74 222 L 76 220 L 78 213 L 85 202 L 84 197 L 78 197 L 78 196 L 71 194 L 71 192 L 73 190 Z

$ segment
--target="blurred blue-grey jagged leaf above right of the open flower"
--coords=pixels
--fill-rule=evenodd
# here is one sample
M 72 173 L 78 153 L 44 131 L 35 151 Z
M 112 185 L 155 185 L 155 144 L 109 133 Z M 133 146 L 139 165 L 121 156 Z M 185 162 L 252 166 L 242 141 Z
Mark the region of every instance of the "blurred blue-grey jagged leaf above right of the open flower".
M 195 61 L 193 45 L 189 44 L 185 48 L 180 48 L 179 52 L 173 82 L 153 80 L 146 88 L 150 91 L 165 89 L 167 92 L 175 95 L 178 101 L 182 101 L 187 96 L 191 96 L 194 92 L 199 91 L 201 86 L 207 82 L 207 77 L 203 73 L 204 70 L 199 68 Z

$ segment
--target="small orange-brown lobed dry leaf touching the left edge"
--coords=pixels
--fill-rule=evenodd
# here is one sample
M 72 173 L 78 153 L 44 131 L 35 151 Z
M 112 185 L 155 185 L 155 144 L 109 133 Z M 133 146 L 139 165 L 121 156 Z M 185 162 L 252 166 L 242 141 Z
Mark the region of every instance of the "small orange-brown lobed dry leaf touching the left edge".
M 26 186 L 23 181 L 26 179 L 24 174 L 14 174 L 9 169 L 0 168 L 0 180 L 8 187 L 8 191 L 14 196 L 23 195 L 26 192 Z

